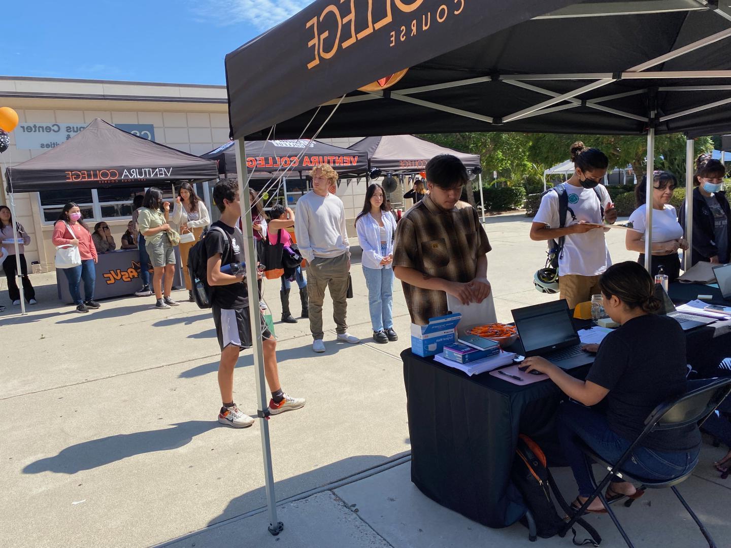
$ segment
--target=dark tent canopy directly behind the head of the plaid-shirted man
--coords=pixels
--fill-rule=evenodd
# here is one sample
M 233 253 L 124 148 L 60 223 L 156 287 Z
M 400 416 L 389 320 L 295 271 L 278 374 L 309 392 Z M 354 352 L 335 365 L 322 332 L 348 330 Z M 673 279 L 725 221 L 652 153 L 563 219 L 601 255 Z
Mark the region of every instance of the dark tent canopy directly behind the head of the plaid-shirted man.
M 246 143 L 249 150 L 249 143 Z M 371 167 L 383 171 L 423 171 L 426 162 L 438 154 L 453 154 L 461 159 L 469 170 L 480 167 L 480 155 L 452 150 L 435 145 L 414 135 L 387 135 L 385 137 L 366 137 L 349 146 L 352 151 L 365 151 Z

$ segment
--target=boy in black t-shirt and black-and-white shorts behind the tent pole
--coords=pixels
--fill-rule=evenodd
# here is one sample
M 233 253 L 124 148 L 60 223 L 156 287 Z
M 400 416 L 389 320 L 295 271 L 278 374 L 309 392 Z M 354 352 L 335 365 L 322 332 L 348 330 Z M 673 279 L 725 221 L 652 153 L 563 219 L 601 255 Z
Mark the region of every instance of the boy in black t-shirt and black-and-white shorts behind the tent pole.
M 254 424 L 251 416 L 244 414 L 233 402 L 233 370 L 238 354 L 251 348 L 251 321 L 249 321 L 249 294 L 243 273 L 221 272 L 227 265 L 243 263 L 243 235 L 236 228 L 240 216 L 238 185 L 232 180 L 222 179 L 213 188 L 213 200 L 221 210 L 221 219 L 211 225 L 205 236 L 205 251 L 208 256 L 208 285 L 213 290 L 213 322 L 221 346 L 219 365 L 219 389 L 223 406 L 219 422 L 235 428 Z M 264 354 L 264 375 L 272 392 L 269 401 L 270 414 L 292 411 L 305 405 L 304 398 L 290 397 L 279 384 L 276 363 L 276 340 L 262 318 L 262 350 Z

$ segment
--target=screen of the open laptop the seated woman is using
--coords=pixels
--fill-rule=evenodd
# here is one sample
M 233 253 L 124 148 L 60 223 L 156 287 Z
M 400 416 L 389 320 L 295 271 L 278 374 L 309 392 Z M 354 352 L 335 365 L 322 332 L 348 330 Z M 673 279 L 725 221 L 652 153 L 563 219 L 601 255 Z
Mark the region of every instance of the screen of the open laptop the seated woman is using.
M 512 319 L 520 333 L 526 356 L 579 343 L 566 300 L 516 308 Z

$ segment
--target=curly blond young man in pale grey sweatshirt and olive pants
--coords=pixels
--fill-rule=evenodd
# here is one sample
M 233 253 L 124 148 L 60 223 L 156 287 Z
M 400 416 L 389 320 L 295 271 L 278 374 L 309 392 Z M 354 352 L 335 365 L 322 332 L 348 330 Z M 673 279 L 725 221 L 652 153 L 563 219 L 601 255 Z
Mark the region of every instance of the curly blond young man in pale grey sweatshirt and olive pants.
M 337 340 L 356 344 L 360 339 L 347 331 L 350 243 L 343 202 L 329 190 L 336 184 L 338 174 L 330 165 L 320 164 L 313 168 L 311 176 L 312 190 L 297 201 L 295 236 L 300 253 L 307 261 L 310 331 L 314 339 L 312 350 L 324 352 L 322 302 L 325 301 L 327 287 L 333 299 Z

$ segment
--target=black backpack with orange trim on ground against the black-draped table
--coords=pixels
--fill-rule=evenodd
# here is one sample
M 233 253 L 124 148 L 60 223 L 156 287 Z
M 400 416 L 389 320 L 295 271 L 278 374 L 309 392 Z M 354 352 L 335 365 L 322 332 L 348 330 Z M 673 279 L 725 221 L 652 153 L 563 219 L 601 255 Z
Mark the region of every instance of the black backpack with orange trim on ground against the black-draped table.
M 556 501 L 566 513 L 567 517 L 571 513 L 571 509 L 558 490 L 553 475 L 546 467 L 546 457 L 540 446 L 527 435 L 520 434 L 518 436 L 518 445 L 515 447 L 515 461 L 510 472 L 510 479 L 515 487 L 518 488 L 520 494 L 523 495 L 523 502 L 529 510 L 522 520 L 523 525 L 530 528 L 531 520 L 534 521 L 537 536 L 542 539 L 550 539 L 556 536 L 563 528 L 565 522 L 556 512 L 556 506 L 553 506 L 553 500 L 550 492 L 553 490 L 556 495 Z M 582 518 L 576 521 L 576 525 L 581 525 L 591 535 L 591 539 L 585 539 L 582 542 L 576 540 L 576 530 L 572 528 L 574 533 L 573 542 L 576 546 L 583 544 L 592 544 L 598 547 L 602 542 L 602 537 Z M 529 536 L 531 541 L 535 541 L 535 536 Z

